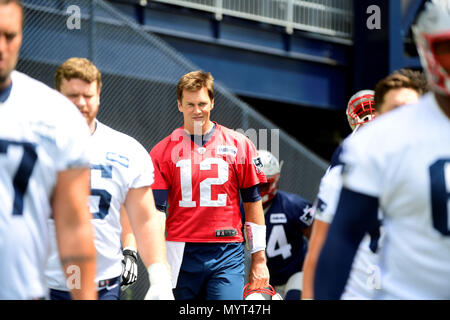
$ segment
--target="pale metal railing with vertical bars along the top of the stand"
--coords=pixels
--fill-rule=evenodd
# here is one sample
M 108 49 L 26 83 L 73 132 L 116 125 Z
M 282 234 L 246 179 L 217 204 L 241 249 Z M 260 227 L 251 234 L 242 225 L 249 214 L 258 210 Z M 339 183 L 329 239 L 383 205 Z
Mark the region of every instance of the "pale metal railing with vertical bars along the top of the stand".
M 294 29 L 350 39 L 353 0 L 152 0 Z

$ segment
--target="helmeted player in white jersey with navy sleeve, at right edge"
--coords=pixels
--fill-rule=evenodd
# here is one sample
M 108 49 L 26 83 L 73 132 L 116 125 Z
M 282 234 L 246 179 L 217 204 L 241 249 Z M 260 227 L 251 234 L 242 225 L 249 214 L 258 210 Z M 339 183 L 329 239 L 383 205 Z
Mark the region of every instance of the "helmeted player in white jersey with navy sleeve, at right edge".
M 413 32 L 434 92 L 345 142 L 343 188 L 317 265 L 318 299 L 341 296 L 378 207 L 386 234 L 376 298 L 450 299 L 450 3 L 427 3 Z

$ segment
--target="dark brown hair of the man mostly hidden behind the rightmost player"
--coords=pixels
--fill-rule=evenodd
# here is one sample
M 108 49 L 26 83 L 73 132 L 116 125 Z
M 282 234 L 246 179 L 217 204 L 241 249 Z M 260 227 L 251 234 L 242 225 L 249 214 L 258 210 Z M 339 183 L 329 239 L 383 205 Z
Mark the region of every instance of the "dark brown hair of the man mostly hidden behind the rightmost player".
M 390 90 L 400 88 L 412 89 L 419 96 L 429 91 L 428 82 L 423 72 L 400 69 L 377 83 L 375 87 L 375 109 L 380 111 L 380 107 L 384 103 L 384 97 Z

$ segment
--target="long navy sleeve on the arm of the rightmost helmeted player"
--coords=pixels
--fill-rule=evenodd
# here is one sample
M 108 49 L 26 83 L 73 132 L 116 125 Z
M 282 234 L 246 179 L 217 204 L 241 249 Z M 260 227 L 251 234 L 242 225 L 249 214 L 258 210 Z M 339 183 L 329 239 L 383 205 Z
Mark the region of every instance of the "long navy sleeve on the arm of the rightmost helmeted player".
M 364 234 L 377 223 L 378 198 L 342 188 L 335 217 L 317 262 L 314 298 L 340 299 Z

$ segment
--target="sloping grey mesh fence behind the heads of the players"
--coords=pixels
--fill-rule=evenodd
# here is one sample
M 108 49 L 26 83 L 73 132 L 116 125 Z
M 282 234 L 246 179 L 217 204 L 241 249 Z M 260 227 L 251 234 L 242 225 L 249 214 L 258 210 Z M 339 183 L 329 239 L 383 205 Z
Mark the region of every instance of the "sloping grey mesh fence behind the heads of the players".
M 103 1 L 25 0 L 24 6 L 18 70 L 53 86 L 63 61 L 73 56 L 91 59 L 103 79 L 99 120 L 136 138 L 147 150 L 182 125 L 176 83 L 198 66 Z M 312 201 L 327 163 L 216 80 L 212 119 L 277 153 L 284 160 L 280 188 Z M 144 297 L 148 279 L 141 262 L 139 273 L 138 283 L 123 299 Z

